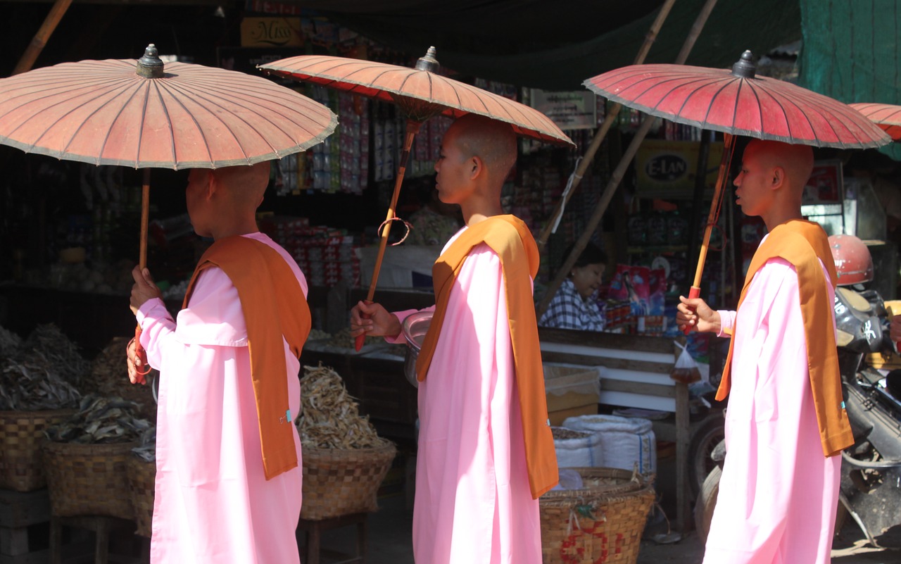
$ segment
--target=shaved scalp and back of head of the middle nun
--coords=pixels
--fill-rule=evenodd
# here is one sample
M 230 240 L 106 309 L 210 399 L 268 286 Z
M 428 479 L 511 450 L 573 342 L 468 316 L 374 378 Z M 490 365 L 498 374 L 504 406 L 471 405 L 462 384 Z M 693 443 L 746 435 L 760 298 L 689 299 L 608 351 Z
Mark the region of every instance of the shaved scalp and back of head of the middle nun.
M 495 181 L 503 181 L 516 162 L 516 134 L 509 123 L 466 114 L 451 125 L 448 135 L 465 157 L 482 159 Z

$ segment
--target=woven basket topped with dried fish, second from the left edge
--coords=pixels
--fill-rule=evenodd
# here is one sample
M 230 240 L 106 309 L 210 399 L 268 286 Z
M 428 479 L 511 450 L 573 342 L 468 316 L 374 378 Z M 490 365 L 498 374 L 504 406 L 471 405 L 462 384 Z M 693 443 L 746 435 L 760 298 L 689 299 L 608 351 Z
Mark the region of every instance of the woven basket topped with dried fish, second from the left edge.
M 85 396 L 76 414 L 48 427 L 44 461 L 50 513 L 133 519 L 126 478 L 132 448 L 152 426 L 121 397 Z

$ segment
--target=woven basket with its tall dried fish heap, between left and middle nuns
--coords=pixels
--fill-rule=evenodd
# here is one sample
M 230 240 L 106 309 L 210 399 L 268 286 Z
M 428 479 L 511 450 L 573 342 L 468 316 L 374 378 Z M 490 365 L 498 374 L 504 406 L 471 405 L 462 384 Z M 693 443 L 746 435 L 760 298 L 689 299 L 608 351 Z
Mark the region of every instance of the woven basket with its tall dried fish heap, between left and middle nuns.
M 302 519 L 378 509 L 378 487 L 396 449 L 376 433 L 332 368 L 304 367 L 296 424 L 303 450 Z

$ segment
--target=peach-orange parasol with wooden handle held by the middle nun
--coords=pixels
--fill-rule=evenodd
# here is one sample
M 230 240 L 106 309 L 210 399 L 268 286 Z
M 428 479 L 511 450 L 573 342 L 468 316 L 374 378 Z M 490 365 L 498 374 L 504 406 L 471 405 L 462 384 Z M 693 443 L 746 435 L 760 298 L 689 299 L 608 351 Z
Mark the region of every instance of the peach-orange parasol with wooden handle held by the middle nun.
M 407 118 L 404 151 L 401 153 L 397 169 L 391 204 L 388 206 L 385 223 L 382 223 L 384 228 L 381 230 L 376 266 L 373 268 L 372 281 L 369 284 L 367 296 L 369 301 L 372 301 L 375 295 L 378 271 L 385 256 L 391 223 L 395 219 L 395 207 L 404 179 L 406 160 L 421 123 L 439 114 L 451 117 L 479 114 L 510 123 L 514 132 L 523 137 L 551 143 L 573 144 L 551 118 L 538 110 L 437 74 L 439 65 L 435 59 L 434 47 L 430 47 L 425 57 L 416 62 L 415 68 L 328 56 L 289 57 L 260 65 L 259 68 L 280 77 L 305 80 L 392 102 L 400 107 Z M 357 350 L 362 346 L 362 342 L 363 337 L 358 337 Z

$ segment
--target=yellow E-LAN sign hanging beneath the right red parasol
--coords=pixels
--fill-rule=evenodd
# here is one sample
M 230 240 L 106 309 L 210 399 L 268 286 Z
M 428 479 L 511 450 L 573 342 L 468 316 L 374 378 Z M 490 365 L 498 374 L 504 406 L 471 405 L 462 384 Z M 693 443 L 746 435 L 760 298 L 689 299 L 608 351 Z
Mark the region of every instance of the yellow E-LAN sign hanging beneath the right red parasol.
M 643 141 L 635 155 L 638 196 L 668 199 L 692 197 L 700 146 L 700 141 Z M 714 188 L 722 157 L 723 143 L 710 143 L 705 189 Z

